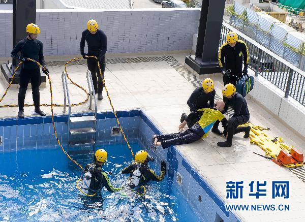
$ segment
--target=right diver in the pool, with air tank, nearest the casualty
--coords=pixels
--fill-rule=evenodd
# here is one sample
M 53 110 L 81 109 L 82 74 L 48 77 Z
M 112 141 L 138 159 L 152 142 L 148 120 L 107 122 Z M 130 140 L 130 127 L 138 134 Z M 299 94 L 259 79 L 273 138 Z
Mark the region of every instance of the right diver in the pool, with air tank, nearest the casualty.
M 146 151 L 140 150 L 135 155 L 135 162 L 122 170 L 122 173 L 124 174 L 130 173 L 128 185 L 131 188 L 144 185 L 150 180 L 163 180 L 166 172 L 165 161 L 161 161 L 161 173 L 159 176 L 155 173 L 155 171 L 149 169 L 147 166 L 149 161 L 154 162 L 155 160 Z

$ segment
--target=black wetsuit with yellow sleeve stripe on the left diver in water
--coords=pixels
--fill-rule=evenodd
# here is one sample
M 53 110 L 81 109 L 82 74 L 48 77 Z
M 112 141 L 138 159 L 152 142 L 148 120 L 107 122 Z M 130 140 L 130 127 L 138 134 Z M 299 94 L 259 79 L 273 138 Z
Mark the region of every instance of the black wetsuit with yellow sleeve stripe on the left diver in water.
M 90 171 L 92 175 L 89 186 L 89 194 L 97 193 L 100 195 L 100 192 L 104 186 L 111 193 L 121 189 L 121 187 L 115 188 L 111 185 L 106 172 L 102 171 L 101 165 L 95 163 L 88 164 L 85 168 L 85 172 L 87 171 Z

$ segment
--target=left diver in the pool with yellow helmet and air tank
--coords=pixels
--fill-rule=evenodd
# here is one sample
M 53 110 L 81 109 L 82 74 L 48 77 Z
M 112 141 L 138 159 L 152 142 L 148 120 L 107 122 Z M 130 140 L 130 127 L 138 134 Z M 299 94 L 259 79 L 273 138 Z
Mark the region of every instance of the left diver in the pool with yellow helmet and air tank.
M 94 163 L 88 164 L 81 183 L 81 190 L 87 195 L 100 197 L 101 191 L 105 186 L 109 192 L 120 191 L 122 187 L 115 188 L 111 185 L 107 173 L 102 170 L 102 166 L 107 160 L 107 152 L 104 149 L 98 149 L 94 156 Z

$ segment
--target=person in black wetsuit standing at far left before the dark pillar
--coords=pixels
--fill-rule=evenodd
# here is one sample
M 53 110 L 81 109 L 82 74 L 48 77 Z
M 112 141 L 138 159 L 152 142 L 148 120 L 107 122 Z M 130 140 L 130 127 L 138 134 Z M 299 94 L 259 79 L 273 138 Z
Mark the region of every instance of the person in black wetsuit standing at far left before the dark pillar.
M 18 93 L 18 117 L 24 118 L 24 99 L 29 80 L 31 80 L 33 102 L 35 106 L 35 112 L 41 116 L 46 114 L 40 109 L 40 95 L 39 86 L 41 83 L 40 67 L 33 61 L 29 61 L 28 58 L 32 58 L 38 61 L 42 65 L 42 72 L 48 75 L 49 70 L 46 68 L 46 64 L 43 57 L 42 42 L 37 40 L 38 34 L 40 34 L 40 28 L 36 24 L 28 24 L 26 26 L 27 37 L 18 42 L 11 52 L 13 58 L 21 60 L 19 74 L 19 93 Z M 17 54 L 20 52 L 20 56 Z

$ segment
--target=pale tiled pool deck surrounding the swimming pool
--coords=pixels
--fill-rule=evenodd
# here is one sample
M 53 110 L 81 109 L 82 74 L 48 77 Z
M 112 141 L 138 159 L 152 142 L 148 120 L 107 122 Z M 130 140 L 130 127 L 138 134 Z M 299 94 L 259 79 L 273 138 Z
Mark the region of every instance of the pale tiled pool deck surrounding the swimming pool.
M 146 56 L 149 56 L 148 54 Z M 161 54 L 159 55 L 161 56 Z M 186 54 L 171 54 L 181 64 L 184 64 Z M 118 57 L 118 56 L 114 56 Z M 121 57 L 121 56 L 120 56 Z M 139 56 L 131 56 L 139 57 Z M 48 60 L 48 58 L 46 58 Z M 58 59 L 57 59 L 58 60 Z M 53 86 L 54 103 L 63 103 L 63 86 L 61 74 L 64 67 L 50 67 Z M 86 66 L 71 66 L 68 73 L 75 82 L 87 88 Z M 222 79 L 214 77 L 216 91 L 221 95 Z M 141 108 L 159 126 L 164 133 L 178 132 L 179 119 L 182 112 L 189 112 L 186 104 L 195 87 L 182 77 L 168 62 L 140 62 L 130 64 L 107 64 L 105 72 L 107 89 L 116 110 Z M 85 98 L 82 90 L 69 84 L 73 103 L 81 102 Z M 0 80 L 0 91 L 3 93 L 6 85 Z M 3 104 L 17 103 L 18 89 L 10 89 Z M 266 95 L 267 96 L 267 95 Z M 111 110 L 105 90 L 103 101 L 98 102 L 99 110 Z M 41 103 L 49 103 L 49 87 L 41 89 Z M 28 90 L 25 102 L 32 103 L 31 89 Z M 247 98 L 250 121 L 253 124 L 266 126 L 271 131 L 266 132 L 272 137 L 283 137 L 288 145 L 294 145 L 305 153 L 304 138 L 294 134 L 287 126 L 274 118 L 254 101 Z M 42 110 L 50 114 L 49 107 Z M 25 107 L 25 115 L 32 115 L 33 107 Z M 56 114 L 63 113 L 63 108 L 55 107 Z M 88 111 L 88 103 L 73 107 L 72 112 Z M 16 117 L 18 108 L 0 109 L 1 117 Z M 263 157 L 253 154 L 264 152 L 256 145 L 251 145 L 243 134 L 233 138 L 233 146 L 222 148 L 217 142 L 224 141 L 210 133 L 204 141 L 177 146 L 202 177 L 214 187 L 215 191 L 227 202 L 236 204 L 290 204 L 290 211 L 239 211 L 237 215 L 245 221 L 304 221 L 305 220 L 305 183 L 295 176 L 289 169 L 279 167 Z M 163 150 L 165 152 L 165 150 Z M 243 199 L 226 199 L 227 181 L 244 181 Z M 271 198 L 271 181 L 289 181 L 289 199 Z M 249 197 L 249 183 L 251 181 L 267 181 L 267 197 Z M 256 187 L 256 186 L 255 186 Z M 262 187 L 264 188 L 264 187 Z M 256 192 L 256 189 L 254 190 Z

